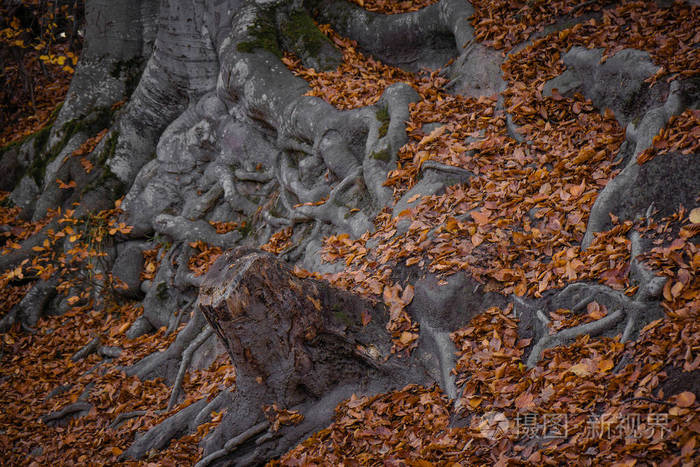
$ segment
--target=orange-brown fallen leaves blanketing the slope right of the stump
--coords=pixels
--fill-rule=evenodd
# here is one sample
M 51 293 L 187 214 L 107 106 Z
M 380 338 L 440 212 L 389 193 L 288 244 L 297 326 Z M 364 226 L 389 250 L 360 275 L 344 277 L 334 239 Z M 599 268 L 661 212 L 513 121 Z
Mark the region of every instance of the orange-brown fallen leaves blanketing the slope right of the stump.
M 348 459 L 345 453 L 352 452 L 353 460 L 364 463 L 389 459 L 391 464 L 395 459 L 416 465 L 451 459 L 498 465 L 509 460 L 688 464 L 700 433 L 697 402 L 690 392 L 669 398 L 662 386 L 677 369 L 700 367 L 700 284 L 695 272 L 700 256 L 692 241 L 700 231 L 700 215 L 686 217 L 681 208 L 671 218 L 646 220 L 646 227 L 645 220 L 620 222 L 613 217 L 613 227 L 599 233 L 582 252 L 578 244 L 593 202 L 619 170 L 614 157 L 624 132 L 610 110 L 601 114 L 580 95 L 569 98 L 555 92 L 543 97 L 541 92 L 546 80 L 563 71 L 561 55 L 573 45 L 605 47 L 606 56 L 627 47 L 646 50 L 663 67 L 655 79 L 668 73 L 698 74 L 698 56 L 692 52 L 699 42 L 692 26 L 697 24 L 698 8 L 682 2 L 668 9 L 625 2 L 600 13 L 605 2 L 581 7 L 580 2 L 475 3 L 477 37 L 506 49 L 537 32 L 534 26 L 552 23 L 563 13 L 593 16 L 536 40 L 504 63 L 506 108 L 532 144 L 511 138 L 505 115 L 495 110 L 495 99 L 449 96 L 439 87 L 421 93 L 423 100 L 411 107 L 410 142 L 400 150 L 387 184 L 398 199 L 415 184 L 428 160 L 467 169 L 475 177 L 469 185 L 447 187 L 442 195 L 414 196 L 408 200 L 410 208 L 397 218 L 382 212 L 372 235 L 327 238 L 324 259 L 341 260 L 346 269 L 326 278 L 357 293 L 378 295 L 381 290 L 394 314 L 401 307 L 391 277 L 400 262 L 445 274 L 465 270 L 484 282 L 487 291 L 505 294 L 539 296 L 567 283 L 592 280 L 632 295 L 637 288 L 629 283 L 628 235 L 637 229 L 652 235 L 658 245 L 645 257 L 647 264 L 670 278 L 662 303 L 667 318 L 648 325 L 636 343 L 623 345 L 619 337 L 579 337 L 571 345 L 546 350 L 541 363 L 527 370 L 521 356 L 529 340 L 518 339 L 512 310 L 487 310 L 453 334 L 459 349 L 457 378 L 464 390 L 460 406 L 469 429 L 432 434 L 433 440 L 453 437 L 453 444 L 417 461 L 412 457 L 417 451 L 408 452 L 406 444 L 380 445 L 378 428 L 373 428 L 374 445 L 364 441 L 361 428 L 346 431 L 338 420 L 359 418 L 359 411 L 344 405 L 329 429 L 289 453 L 283 463 L 343 462 Z M 499 9 L 509 13 L 499 16 Z M 373 81 L 381 77 L 377 74 Z M 328 87 L 316 79 L 310 80 L 314 95 L 337 105 L 338 88 L 326 96 Z M 366 101 L 343 100 L 338 107 L 360 105 Z M 423 131 L 424 125 L 435 122 L 440 124 L 437 128 Z M 660 133 L 653 150 L 694 152 L 697 126 L 695 113 L 685 112 Z M 397 222 L 404 219 L 409 221 L 408 231 L 399 235 Z M 368 248 L 370 241 L 378 246 Z M 550 314 L 551 331 L 607 313 L 595 302 L 582 314 L 557 310 Z M 362 407 L 373 400 L 363 400 Z M 416 405 L 412 410 L 420 409 Z M 372 413 L 362 426 L 396 430 L 394 416 Z M 559 428 L 567 432 L 557 437 L 552 430 L 562 419 L 566 423 Z M 501 429 L 500 436 L 493 437 L 493 427 Z

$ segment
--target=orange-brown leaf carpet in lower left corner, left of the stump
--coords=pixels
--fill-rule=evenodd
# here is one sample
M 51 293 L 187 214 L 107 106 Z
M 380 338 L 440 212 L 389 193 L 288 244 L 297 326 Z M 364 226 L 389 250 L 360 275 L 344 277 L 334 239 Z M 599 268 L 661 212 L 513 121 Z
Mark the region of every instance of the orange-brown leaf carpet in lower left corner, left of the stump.
M 126 339 L 125 331 L 142 312 L 130 304 L 103 312 L 69 311 L 60 317 L 42 319 L 37 334 L 11 331 L 2 337 L 6 356 L 0 367 L 0 399 L 5 410 L 0 414 L 0 423 L 6 430 L 0 447 L 6 453 L 6 462 L 26 463 L 28 453 L 34 451 L 36 454 L 29 461 L 38 465 L 116 464 L 136 433 L 148 430 L 201 397 L 214 397 L 234 384 L 235 372 L 228 359 L 216 361 L 206 370 L 190 370 L 183 386 L 185 400 L 172 411 L 159 413 L 167 407 L 170 397 L 165 382 L 141 381 L 118 369 L 152 352 L 164 351 L 177 335 L 166 337 L 163 328 L 152 335 Z M 121 348 L 121 355 L 105 361 L 92 354 L 73 362 L 72 355 L 95 336 L 100 336 L 103 345 Z M 87 416 L 66 426 L 47 426 L 41 421 L 42 416 L 76 402 L 86 391 L 86 400 L 94 407 Z M 120 415 L 134 411 L 145 413 L 112 425 Z M 214 417 L 200 427 L 200 432 L 174 440 L 159 453 L 159 462 L 191 463 L 200 457 L 199 440 L 220 419 Z

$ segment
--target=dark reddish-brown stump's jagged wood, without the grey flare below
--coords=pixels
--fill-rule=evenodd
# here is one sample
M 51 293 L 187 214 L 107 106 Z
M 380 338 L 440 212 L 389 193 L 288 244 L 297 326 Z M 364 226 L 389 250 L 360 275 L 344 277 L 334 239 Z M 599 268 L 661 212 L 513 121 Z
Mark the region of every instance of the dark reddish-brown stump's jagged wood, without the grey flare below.
M 238 390 L 262 390 L 261 403 L 291 407 L 367 378 L 421 379 L 410 357 L 391 354 L 381 306 L 298 277 L 264 252 L 223 254 L 205 276 L 199 308 L 236 366 Z M 249 384 L 257 387 L 242 387 Z

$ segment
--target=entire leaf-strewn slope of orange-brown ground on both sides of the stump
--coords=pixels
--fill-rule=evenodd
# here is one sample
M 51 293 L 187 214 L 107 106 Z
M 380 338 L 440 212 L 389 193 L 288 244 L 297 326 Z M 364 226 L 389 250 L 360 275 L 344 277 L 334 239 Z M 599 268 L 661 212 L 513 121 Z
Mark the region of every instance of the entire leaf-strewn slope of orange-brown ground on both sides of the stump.
M 379 11 L 388 8 L 382 2 L 357 3 Z M 411 7 L 411 2 L 404 3 Z M 373 103 L 399 81 L 411 83 L 422 98 L 411 106 L 410 141 L 387 180 L 395 200 L 403 200 L 402 209 L 393 216 L 381 213 L 376 231 L 358 240 L 338 235 L 324 241 L 324 258 L 346 265 L 326 278 L 387 303 L 397 350 L 410 350 L 417 338 L 416 323 L 404 309 L 413 286 L 396 277 L 404 265 L 443 274 L 445 281 L 450 274 L 467 271 L 485 291 L 522 298 L 515 307 L 489 308 L 452 334 L 459 352 L 455 372 L 461 396 L 456 403 L 437 388 L 421 387 L 350 399 L 337 408 L 332 426 L 280 462 L 692 465 L 700 441 L 698 200 L 670 215 L 655 215 L 651 209 L 645 218 L 612 219 L 612 228 L 582 251 L 592 206 L 622 169 L 616 156 L 625 130 L 612 111 L 596 108 L 583 95 L 545 97 L 543 88 L 564 71 L 564 52 L 577 45 L 603 47 L 610 57 L 624 48 L 644 50 L 663 67 L 659 79 L 676 73 L 697 77 L 698 8 L 680 2 L 657 9 L 653 2 L 633 2 L 600 13 L 598 3 L 586 3 L 575 13 L 591 14 L 591 19 L 511 51 L 572 5 L 474 5 L 476 37 L 511 52 L 502 66 L 507 84 L 502 104 L 496 96 L 452 95 L 446 92 L 448 80 L 438 72 L 414 75 L 362 56 L 352 41 L 330 28 L 324 31 L 343 51 L 344 63 L 337 71 L 304 69 L 292 56 L 284 62 L 311 83 L 314 95 L 338 108 Z M 399 7 L 392 3 L 390 12 L 401 11 Z M 649 163 L 679 152 L 697 157 L 699 118 L 697 109 L 689 109 L 671 119 L 638 160 Z M 464 169 L 470 182 L 434 194 L 409 193 L 425 179 L 425 167 L 431 164 Z M 4 248 L 9 251 L 37 226 L 18 220 L 16 209 L 2 209 L 3 225 L 8 226 Z M 64 222 L 50 241 L 79 233 L 84 242 L 78 245 L 88 253 L 76 255 L 78 262 L 97 264 L 90 250 L 128 231 L 111 214 L 97 216 L 102 221 L 85 227 L 70 221 L 70 213 L 55 213 Z M 216 227 L 225 232 L 238 226 Z M 633 296 L 637 290 L 630 281 L 629 234 L 635 230 L 654 245 L 643 261 L 669 279 L 661 291 L 663 318 L 646 324 L 635 341 L 622 342 L 619 335 L 580 336 L 570 345 L 546 350 L 529 369 L 523 356 L 534 342 L 519 337 L 523 323 L 517 303 L 527 305 L 580 281 L 600 282 Z M 281 252 L 292 235 L 293 229 L 281 230 L 265 247 Z M 201 274 L 220 251 L 203 244 L 193 247 L 201 253 L 190 267 Z M 33 271 L 53 272 L 47 268 L 60 265 L 60 258 L 48 256 L 48 245 L 38 248 L 46 248 L 47 255 L 37 257 Z M 153 252 L 144 274 L 154 274 L 158 259 Z M 24 279 L 22 274 L 20 269 L 3 276 L 8 297 L 3 314 L 26 293 L 26 284 L 11 285 Z M 162 380 L 127 377 L 120 367 L 167 348 L 175 334 L 166 336 L 161 329 L 127 339 L 125 331 L 139 314 L 135 305 L 110 304 L 95 312 L 81 299 L 76 296 L 72 311 L 39 321 L 35 334 L 15 326 L 2 337 L 2 444 L 13 463 L 28 463 L 30 453 L 39 465 L 114 463 L 134 431 L 144 431 L 233 383 L 227 360 L 217 360 L 205 371 L 190 371 L 183 386 L 185 401 L 167 411 L 170 389 Z M 616 312 L 596 300 L 580 308 L 544 311 L 545 327 L 552 333 Z M 101 341 L 94 353 L 74 362 L 71 357 L 96 336 Z M 120 348 L 121 354 L 110 354 L 110 348 Z M 55 390 L 64 385 L 63 391 Z M 42 420 L 65 407 L 86 415 L 65 426 L 52 426 L 51 417 Z M 134 416 L 122 420 L 118 414 Z M 215 414 L 195 435 L 174 440 L 145 462 L 192 463 L 197 442 L 220 416 Z M 68 417 L 54 418 L 66 422 Z

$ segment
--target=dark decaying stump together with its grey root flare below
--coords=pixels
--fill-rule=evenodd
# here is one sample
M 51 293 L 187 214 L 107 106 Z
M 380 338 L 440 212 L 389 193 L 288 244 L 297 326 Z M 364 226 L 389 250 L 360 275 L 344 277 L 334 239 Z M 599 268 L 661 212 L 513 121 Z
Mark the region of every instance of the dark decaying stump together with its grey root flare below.
M 269 459 L 326 426 L 335 405 L 352 393 L 434 382 L 418 359 L 392 355 L 383 305 L 297 277 L 270 254 L 247 248 L 223 254 L 205 276 L 198 300 L 236 366 L 237 387 L 234 407 L 205 441 L 205 455 L 207 444 L 221 446 L 264 422 L 263 406 L 305 417 L 247 448 L 232 443 L 236 453 L 215 452 L 216 459 Z

